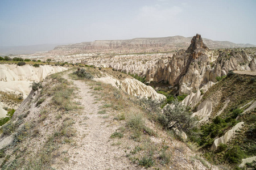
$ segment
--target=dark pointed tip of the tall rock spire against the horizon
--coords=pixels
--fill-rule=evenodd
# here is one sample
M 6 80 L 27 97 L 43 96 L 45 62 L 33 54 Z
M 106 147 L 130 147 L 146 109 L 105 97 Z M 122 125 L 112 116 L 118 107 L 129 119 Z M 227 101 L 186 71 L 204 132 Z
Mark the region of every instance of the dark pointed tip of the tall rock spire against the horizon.
M 193 36 L 186 53 L 191 53 L 193 59 L 197 59 L 203 55 L 205 50 L 208 50 L 208 47 L 204 44 L 201 35 L 197 33 L 196 36 Z

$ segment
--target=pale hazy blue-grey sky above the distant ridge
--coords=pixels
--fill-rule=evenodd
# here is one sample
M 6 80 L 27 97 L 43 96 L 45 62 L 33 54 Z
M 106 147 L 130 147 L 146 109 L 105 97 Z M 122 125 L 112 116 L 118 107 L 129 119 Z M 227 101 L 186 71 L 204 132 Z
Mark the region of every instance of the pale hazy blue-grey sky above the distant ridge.
M 256 45 L 255 8 L 255 0 L 0 0 L 0 46 L 196 33 Z

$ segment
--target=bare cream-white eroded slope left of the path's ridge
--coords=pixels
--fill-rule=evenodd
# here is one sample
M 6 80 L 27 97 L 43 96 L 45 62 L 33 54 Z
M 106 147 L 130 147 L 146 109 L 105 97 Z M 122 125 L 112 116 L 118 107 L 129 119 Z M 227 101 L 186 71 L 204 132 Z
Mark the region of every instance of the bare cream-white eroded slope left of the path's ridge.
M 31 91 L 32 82 L 40 82 L 46 76 L 67 70 L 61 66 L 0 64 L 0 118 L 7 111 L 16 109 Z

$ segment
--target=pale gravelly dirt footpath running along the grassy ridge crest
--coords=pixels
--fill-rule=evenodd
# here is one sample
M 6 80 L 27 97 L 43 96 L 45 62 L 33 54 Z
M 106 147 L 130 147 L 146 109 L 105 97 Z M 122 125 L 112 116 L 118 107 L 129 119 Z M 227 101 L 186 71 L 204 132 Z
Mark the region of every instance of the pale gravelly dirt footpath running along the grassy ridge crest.
M 66 77 L 67 78 L 67 77 Z M 141 169 L 129 163 L 125 152 L 118 146 L 112 146 L 110 135 L 119 127 L 108 124 L 111 117 L 102 118 L 96 96 L 92 95 L 90 87 L 80 80 L 74 80 L 78 88 L 78 102 L 82 104 L 81 114 L 75 114 L 72 118 L 76 121 L 73 127 L 77 130 L 75 138 L 77 145 L 68 146 L 69 160 L 65 165 L 58 165 L 57 169 Z M 107 114 L 103 114 L 107 116 Z M 64 150 L 64 152 L 65 152 Z

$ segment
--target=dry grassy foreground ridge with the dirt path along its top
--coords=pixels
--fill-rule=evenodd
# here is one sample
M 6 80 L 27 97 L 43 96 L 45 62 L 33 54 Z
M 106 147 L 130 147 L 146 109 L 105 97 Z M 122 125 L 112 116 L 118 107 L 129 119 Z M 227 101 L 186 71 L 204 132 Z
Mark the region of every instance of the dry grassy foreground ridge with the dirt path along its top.
M 85 70 L 89 79 L 117 73 Z M 138 98 L 73 71 L 49 76 L 2 127 L 2 169 L 217 168 L 163 130 Z

